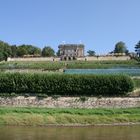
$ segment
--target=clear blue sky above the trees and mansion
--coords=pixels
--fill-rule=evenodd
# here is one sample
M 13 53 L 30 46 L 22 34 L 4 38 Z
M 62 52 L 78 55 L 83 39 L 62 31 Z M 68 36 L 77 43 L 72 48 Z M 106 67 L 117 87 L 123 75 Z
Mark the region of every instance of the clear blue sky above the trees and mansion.
M 85 45 L 107 54 L 140 40 L 140 0 L 0 0 L 0 40 L 11 45 Z

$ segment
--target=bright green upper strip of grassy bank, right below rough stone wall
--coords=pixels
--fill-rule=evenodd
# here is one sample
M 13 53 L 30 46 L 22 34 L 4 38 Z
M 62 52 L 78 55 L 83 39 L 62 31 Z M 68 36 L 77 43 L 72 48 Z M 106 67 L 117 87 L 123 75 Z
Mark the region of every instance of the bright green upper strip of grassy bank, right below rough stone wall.
M 80 108 L 35 108 L 35 107 L 0 107 L 0 115 L 6 113 L 27 113 L 27 114 L 44 114 L 44 115 L 140 115 L 140 108 L 94 108 L 94 109 L 80 109 Z M 140 118 L 140 117 L 139 117 Z

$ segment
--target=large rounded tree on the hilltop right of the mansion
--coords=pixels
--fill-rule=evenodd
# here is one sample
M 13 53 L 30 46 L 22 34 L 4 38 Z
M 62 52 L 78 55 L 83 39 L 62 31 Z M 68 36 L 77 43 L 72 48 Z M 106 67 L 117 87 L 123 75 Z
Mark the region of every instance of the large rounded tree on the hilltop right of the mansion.
M 128 53 L 124 42 L 120 41 L 115 45 L 114 53 Z

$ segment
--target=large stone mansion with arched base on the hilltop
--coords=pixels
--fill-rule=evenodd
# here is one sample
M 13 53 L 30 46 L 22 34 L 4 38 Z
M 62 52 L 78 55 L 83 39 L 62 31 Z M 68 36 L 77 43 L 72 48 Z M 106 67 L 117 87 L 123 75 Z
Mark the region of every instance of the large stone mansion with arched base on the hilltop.
M 62 60 L 74 60 L 84 56 L 83 44 L 61 44 L 58 48 Z

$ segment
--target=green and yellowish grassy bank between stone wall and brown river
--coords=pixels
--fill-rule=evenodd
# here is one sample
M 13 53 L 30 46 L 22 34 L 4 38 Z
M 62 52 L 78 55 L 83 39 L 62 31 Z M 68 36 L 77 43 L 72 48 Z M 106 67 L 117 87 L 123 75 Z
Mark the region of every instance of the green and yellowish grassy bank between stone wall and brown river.
M 0 107 L 0 125 L 77 125 L 140 122 L 140 108 L 48 109 Z

